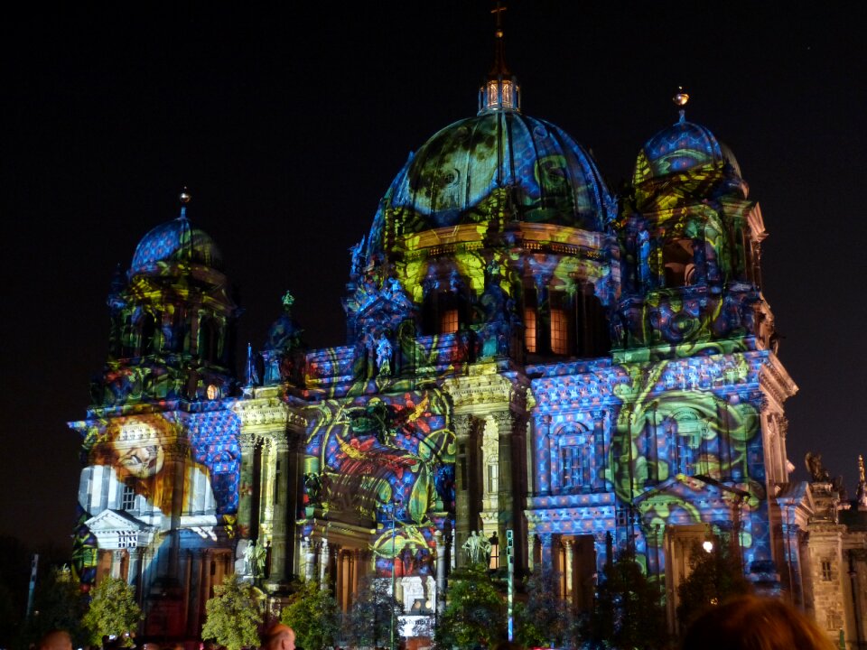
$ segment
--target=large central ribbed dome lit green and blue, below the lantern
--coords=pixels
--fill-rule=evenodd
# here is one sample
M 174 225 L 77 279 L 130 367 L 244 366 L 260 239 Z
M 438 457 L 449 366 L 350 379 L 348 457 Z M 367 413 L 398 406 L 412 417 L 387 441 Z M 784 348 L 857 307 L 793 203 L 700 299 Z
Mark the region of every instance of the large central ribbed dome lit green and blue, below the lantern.
M 402 210 L 405 234 L 417 233 L 486 220 L 498 188 L 510 190 L 509 218 L 594 231 L 608 221 L 608 190 L 590 154 L 558 126 L 517 111 L 446 126 L 397 175 L 384 203 Z

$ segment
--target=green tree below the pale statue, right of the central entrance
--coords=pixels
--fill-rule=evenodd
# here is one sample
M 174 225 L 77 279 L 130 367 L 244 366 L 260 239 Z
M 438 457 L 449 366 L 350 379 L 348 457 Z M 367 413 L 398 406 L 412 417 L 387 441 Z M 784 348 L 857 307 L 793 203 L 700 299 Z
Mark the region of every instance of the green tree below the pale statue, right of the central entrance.
M 452 572 L 448 604 L 434 636 L 438 646 L 459 648 L 493 645 L 506 636 L 506 603 L 484 564 Z

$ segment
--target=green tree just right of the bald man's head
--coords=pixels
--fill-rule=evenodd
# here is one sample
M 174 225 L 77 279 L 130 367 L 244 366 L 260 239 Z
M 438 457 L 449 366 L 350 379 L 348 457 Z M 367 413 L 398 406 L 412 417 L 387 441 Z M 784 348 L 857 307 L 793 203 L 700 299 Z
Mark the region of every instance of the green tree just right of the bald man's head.
M 331 590 L 320 589 L 315 580 L 296 586 L 283 608 L 280 620 L 295 632 L 295 642 L 304 650 L 334 645 L 340 635 L 340 610 Z

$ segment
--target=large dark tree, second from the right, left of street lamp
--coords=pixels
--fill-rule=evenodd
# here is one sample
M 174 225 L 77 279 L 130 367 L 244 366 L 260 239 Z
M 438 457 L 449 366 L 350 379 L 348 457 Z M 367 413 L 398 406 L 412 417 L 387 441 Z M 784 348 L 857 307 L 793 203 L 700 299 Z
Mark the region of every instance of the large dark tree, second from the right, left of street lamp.
M 580 624 L 584 647 L 660 648 L 667 644 L 665 609 L 635 551 L 618 553 L 602 571 L 592 613 Z

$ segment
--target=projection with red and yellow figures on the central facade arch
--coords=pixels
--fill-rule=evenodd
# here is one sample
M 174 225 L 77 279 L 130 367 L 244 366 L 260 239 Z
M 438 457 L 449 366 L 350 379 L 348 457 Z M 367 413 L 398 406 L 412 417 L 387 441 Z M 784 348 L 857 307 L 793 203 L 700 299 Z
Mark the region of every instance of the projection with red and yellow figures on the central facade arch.
M 305 417 L 306 515 L 375 521 L 381 571 L 390 575 L 398 556 L 404 570 L 429 572 L 433 532 L 454 513 L 455 442 L 443 393 L 326 400 Z

